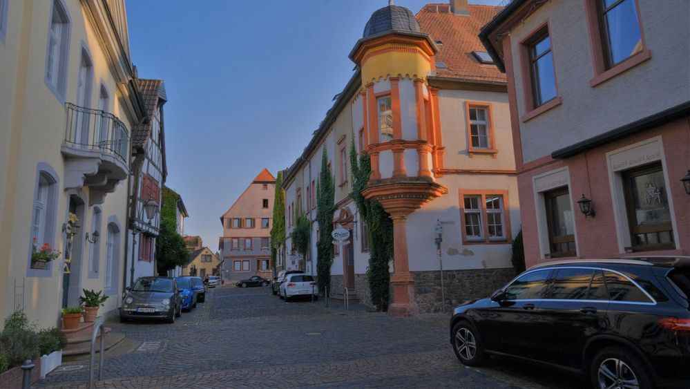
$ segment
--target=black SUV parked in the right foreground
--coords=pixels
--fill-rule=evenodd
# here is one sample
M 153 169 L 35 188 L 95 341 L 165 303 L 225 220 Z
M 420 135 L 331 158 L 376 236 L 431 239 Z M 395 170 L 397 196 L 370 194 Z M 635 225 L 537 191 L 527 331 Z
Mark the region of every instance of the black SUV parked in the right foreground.
M 450 319 L 458 359 L 521 357 L 595 388 L 690 387 L 690 257 L 564 260 L 531 267 Z

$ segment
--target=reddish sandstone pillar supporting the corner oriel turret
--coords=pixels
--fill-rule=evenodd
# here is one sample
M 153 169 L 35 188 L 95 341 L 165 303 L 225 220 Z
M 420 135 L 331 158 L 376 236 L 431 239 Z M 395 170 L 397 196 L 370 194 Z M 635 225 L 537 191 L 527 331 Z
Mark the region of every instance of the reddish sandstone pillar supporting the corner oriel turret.
M 390 278 L 393 285 L 393 303 L 388 312 L 393 316 L 412 316 L 419 313 L 419 306 L 414 298 L 414 280 L 408 262 L 408 232 L 406 214 L 391 215 L 393 220 L 394 267 Z

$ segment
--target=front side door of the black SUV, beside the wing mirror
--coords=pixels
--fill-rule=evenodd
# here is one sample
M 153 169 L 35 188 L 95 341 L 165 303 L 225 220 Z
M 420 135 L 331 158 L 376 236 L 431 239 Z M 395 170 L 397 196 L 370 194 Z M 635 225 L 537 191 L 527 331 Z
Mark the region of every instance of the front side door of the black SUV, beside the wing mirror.
M 488 307 L 477 310 L 477 327 L 486 348 L 537 357 L 542 343 L 536 330 L 539 304 L 550 273 L 550 269 L 541 269 L 522 274 L 504 289 L 502 301 L 491 301 Z

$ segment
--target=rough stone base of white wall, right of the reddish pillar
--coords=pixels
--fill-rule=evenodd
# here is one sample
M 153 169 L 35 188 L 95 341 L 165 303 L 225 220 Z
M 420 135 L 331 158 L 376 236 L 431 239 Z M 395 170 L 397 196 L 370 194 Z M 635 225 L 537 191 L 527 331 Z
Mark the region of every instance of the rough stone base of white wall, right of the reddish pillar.
M 445 312 L 466 300 L 488 297 L 515 277 L 512 267 L 502 269 L 444 270 Z M 441 312 L 440 272 L 412 272 L 419 312 Z

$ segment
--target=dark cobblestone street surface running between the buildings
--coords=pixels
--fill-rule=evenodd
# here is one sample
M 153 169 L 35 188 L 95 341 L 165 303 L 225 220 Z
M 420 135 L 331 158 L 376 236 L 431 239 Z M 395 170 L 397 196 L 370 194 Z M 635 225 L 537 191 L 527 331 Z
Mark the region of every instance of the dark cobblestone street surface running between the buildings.
M 510 359 L 466 368 L 448 342 L 447 315 L 393 318 L 334 301 L 285 303 L 267 287 L 218 287 L 174 324 L 108 322 L 127 340 L 106 352 L 97 388 L 328 386 L 582 388 L 578 377 Z M 88 360 L 40 388 L 86 388 Z

